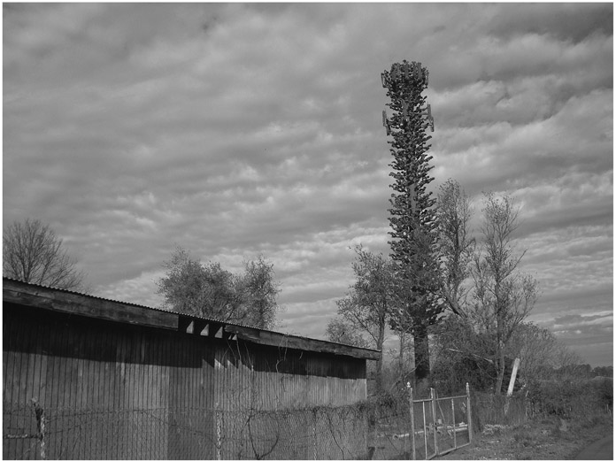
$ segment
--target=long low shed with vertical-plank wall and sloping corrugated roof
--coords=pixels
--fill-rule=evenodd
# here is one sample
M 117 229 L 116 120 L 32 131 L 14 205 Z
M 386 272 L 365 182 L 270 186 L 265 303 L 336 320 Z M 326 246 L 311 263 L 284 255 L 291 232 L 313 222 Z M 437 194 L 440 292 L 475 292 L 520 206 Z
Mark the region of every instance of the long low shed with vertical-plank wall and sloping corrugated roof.
M 376 350 L 3 284 L 4 458 L 365 456 Z

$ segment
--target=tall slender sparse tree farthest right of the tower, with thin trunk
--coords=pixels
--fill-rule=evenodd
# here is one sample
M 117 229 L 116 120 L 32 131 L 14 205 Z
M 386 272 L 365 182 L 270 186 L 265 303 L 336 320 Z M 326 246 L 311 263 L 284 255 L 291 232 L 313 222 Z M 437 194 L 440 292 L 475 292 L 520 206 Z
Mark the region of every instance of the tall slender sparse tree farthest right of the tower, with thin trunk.
M 516 328 L 535 307 L 538 296 L 534 277 L 518 272 L 526 251 L 517 254 L 513 233 L 518 228 L 519 208 L 509 196 L 485 194 L 482 250 L 473 263 L 476 325 L 496 332 L 497 384 L 500 393 L 504 377 L 504 351 Z

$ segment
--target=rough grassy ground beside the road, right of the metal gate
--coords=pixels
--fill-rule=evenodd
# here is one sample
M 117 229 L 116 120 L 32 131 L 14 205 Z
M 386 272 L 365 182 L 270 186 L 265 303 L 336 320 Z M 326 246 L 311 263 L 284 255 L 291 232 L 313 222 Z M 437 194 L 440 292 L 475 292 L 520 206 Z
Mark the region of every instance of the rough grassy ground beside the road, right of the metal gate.
M 472 445 L 439 459 L 574 459 L 581 449 L 612 433 L 612 417 L 584 422 L 537 419 L 517 427 L 486 425 Z

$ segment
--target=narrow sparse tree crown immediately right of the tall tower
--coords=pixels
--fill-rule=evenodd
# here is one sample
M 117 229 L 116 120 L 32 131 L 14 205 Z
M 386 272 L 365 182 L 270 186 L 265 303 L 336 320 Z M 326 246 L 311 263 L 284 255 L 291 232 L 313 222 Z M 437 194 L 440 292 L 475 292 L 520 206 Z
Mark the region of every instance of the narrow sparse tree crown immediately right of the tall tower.
M 470 276 L 475 250 L 475 240 L 469 229 L 472 216 L 470 199 L 458 181 L 450 179 L 445 182 L 436 198 L 441 295 L 450 311 L 460 316 L 466 315 L 466 296 L 470 286 L 464 282 Z

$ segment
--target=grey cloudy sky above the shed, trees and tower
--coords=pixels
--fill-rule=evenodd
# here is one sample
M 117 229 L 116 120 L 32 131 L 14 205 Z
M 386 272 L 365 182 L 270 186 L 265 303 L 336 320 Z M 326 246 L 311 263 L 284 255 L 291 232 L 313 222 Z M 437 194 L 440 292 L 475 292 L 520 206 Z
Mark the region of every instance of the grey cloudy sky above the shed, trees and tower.
M 4 225 L 42 219 L 92 294 L 159 306 L 176 245 L 262 253 L 323 338 L 350 246 L 389 254 L 381 72 L 430 73 L 434 188 L 521 206 L 530 320 L 612 365 L 612 4 L 4 4 Z

